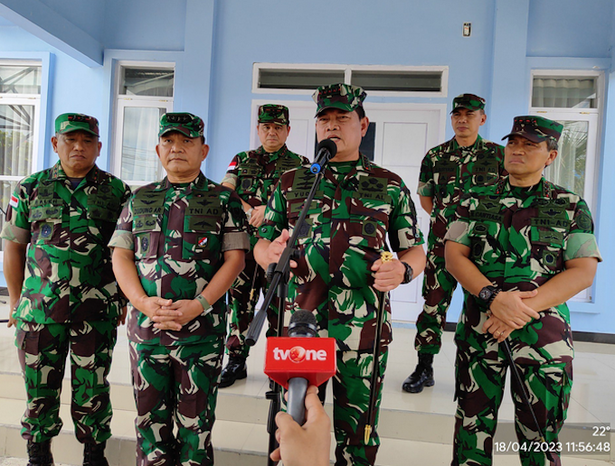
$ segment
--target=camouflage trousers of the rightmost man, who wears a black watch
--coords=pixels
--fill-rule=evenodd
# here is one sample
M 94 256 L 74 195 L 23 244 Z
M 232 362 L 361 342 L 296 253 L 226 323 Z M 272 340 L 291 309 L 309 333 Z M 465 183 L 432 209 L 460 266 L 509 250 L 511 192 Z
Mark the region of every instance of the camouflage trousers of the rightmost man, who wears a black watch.
M 502 403 L 508 363 L 504 349 L 485 335 L 484 350 L 471 348 L 457 340 L 456 390 L 453 461 L 451 465 L 489 466 L 492 464 L 493 435 L 497 427 L 497 411 Z M 572 388 L 572 360 L 552 363 L 527 358 L 525 343 L 512 340 L 513 360 L 520 371 L 545 441 L 556 443 L 566 418 Z M 511 375 L 512 376 L 512 375 Z M 527 409 L 516 381 L 511 377 L 511 394 L 515 404 L 515 430 L 519 444 L 538 441 L 540 435 Z M 512 440 L 512 439 L 511 439 Z M 559 466 L 558 453 L 553 452 Z M 544 452 L 519 449 L 523 466 L 544 466 Z

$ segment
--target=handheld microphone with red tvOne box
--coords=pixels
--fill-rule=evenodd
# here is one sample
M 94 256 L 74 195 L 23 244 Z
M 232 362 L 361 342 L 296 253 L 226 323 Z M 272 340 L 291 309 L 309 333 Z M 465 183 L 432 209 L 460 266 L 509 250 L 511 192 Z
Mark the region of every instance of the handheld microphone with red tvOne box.
M 322 385 L 336 374 L 336 339 L 316 337 L 316 317 L 299 309 L 290 317 L 289 337 L 270 337 L 265 374 L 289 390 L 287 412 L 301 425 L 308 385 Z

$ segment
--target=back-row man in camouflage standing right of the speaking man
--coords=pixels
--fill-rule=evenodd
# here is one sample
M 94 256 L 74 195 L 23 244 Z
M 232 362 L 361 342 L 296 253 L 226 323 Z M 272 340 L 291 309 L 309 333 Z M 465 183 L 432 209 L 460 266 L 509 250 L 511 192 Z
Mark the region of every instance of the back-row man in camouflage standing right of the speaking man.
M 418 193 L 430 213 L 427 266 L 423 278 L 425 303 L 416 322 L 414 347 L 419 363 L 402 384 L 409 393 L 431 387 L 433 355 L 440 352 L 446 312 L 457 282 L 444 266 L 444 235 L 462 193 L 472 186 L 492 185 L 503 171 L 502 146 L 482 139 L 478 129 L 487 121 L 485 100 L 474 94 L 453 99 L 450 122 L 455 137 L 423 158 Z

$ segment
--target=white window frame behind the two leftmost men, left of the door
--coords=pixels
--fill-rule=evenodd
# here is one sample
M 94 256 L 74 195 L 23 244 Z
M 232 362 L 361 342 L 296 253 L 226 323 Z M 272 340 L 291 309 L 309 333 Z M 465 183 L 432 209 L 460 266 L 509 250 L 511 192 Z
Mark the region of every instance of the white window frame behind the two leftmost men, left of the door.
M 127 107 L 148 107 L 148 108 L 165 108 L 166 113 L 173 111 L 174 98 L 160 98 L 153 96 L 127 96 L 120 94 L 121 88 L 121 72 L 124 68 L 143 68 L 143 69 L 168 69 L 174 73 L 174 88 L 175 88 L 175 63 L 166 61 L 118 61 L 115 67 L 114 75 L 114 113 L 113 113 L 113 132 L 111 154 L 111 172 L 116 176 L 120 176 L 122 169 L 122 144 L 124 142 L 124 110 Z M 175 90 L 174 90 L 175 97 Z M 155 154 L 152 154 L 155 155 Z M 160 167 L 158 178 L 163 178 L 164 170 Z M 123 180 L 130 186 L 144 186 L 150 182 L 137 180 Z

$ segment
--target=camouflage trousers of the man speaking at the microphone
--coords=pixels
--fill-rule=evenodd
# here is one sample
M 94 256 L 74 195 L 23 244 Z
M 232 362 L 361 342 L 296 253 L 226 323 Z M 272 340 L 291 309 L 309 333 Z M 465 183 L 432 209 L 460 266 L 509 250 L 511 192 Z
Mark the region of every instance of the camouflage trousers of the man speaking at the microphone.
M 333 426 L 336 435 L 336 466 L 374 465 L 380 446 L 377 434 L 383 379 L 389 357 L 383 347 L 379 358 L 380 378 L 375 403 L 373 433 L 364 443 L 365 424 L 368 423 L 368 405 L 374 353 L 369 351 L 337 351 L 337 371 L 333 377 Z M 319 387 L 318 396 L 325 402 L 326 384 Z

